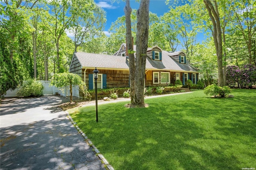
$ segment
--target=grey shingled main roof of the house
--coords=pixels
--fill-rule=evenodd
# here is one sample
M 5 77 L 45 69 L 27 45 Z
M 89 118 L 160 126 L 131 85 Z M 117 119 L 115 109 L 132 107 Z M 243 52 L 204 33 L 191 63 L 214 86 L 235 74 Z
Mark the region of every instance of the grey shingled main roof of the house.
M 189 61 L 186 64 L 175 61 L 168 51 L 162 50 L 162 61 L 152 60 L 147 57 L 146 70 L 166 70 L 179 72 L 197 72 L 197 69 L 190 65 Z M 76 52 L 73 55 L 78 58 L 82 68 L 98 69 L 129 69 L 126 57 L 117 55 L 105 55 L 95 53 Z M 72 58 L 72 60 L 73 60 Z M 72 63 L 72 62 L 71 62 Z

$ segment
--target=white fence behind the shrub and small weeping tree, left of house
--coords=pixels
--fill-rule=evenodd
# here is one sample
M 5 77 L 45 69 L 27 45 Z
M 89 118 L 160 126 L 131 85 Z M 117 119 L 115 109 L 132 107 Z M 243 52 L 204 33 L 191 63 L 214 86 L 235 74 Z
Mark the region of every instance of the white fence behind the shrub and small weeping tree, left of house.
M 44 86 L 44 95 L 56 95 L 59 94 L 63 97 L 70 96 L 70 89 L 69 86 L 58 88 L 55 86 L 50 86 L 51 81 L 39 81 Z M 15 90 L 8 90 L 4 97 L 16 97 L 16 93 L 19 91 L 20 88 L 16 88 Z M 72 96 L 79 98 L 79 87 L 73 86 L 72 87 Z

